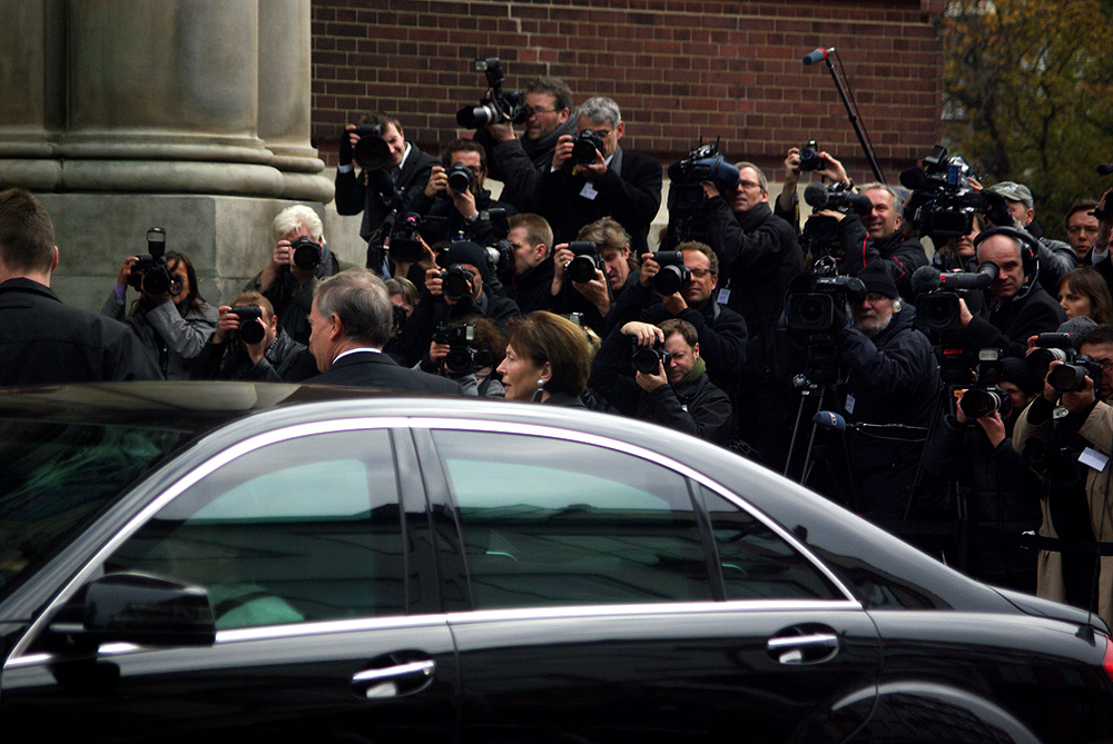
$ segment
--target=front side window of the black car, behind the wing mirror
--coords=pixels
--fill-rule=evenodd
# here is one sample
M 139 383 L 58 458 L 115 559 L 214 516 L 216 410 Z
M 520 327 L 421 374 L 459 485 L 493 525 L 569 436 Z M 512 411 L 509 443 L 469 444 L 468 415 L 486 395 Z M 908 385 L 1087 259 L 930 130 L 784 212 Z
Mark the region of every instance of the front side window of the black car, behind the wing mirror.
M 106 572 L 204 586 L 217 627 L 398 614 L 401 522 L 385 430 L 299 437 L 183 492 Z

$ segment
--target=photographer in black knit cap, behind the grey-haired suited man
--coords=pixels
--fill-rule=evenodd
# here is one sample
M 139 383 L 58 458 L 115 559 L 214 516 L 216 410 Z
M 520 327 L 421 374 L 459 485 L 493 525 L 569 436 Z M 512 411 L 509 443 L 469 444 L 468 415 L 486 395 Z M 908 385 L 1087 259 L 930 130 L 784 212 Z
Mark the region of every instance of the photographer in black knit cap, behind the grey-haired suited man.
M 426 355 L 437 327 L 477 315 L 490 318 L 504 334 L 510 318 L 520 315 L 514 300 L 491 289 L 493 275 L 484 248 L 456 241 L 437 255 L 436 262 L 425 271 L 425 287 L 398 339 L 402 361 L 411 367 Z

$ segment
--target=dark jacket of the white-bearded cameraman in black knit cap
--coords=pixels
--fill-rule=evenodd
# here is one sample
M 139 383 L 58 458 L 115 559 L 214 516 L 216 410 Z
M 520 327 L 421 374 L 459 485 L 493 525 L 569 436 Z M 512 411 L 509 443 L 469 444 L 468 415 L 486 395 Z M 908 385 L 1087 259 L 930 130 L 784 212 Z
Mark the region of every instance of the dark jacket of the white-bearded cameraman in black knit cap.
M 850 424 L 904 424 L 927 427 L 938 400 L 939 369 L 927 336 L 913 326 L 915 310 L 905 306 L 888 328 L 870 338 L 844 327 L 836 331 L 846 370 L 846 420 Z M 853 403 L 851 403 L 853 399 Z M 884 437 L 884 438 L 883 438 Z M 850 465 L 860 485 L 863 514 L 899 519 L 912 493 L 924 450 L 923 435 L 898 431 L 847 431 Z M 917 505 L 942 508 L 942 494 L 918 495 Z

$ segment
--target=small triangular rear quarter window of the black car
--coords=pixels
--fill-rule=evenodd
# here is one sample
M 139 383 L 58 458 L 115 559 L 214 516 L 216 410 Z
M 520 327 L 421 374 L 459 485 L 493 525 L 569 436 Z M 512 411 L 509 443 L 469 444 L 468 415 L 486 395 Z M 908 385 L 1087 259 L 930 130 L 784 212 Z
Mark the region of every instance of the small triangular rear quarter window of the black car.
M 727 599 L 844 599 L 826 576 L 772 529 L 699 487 L 711 522 Z

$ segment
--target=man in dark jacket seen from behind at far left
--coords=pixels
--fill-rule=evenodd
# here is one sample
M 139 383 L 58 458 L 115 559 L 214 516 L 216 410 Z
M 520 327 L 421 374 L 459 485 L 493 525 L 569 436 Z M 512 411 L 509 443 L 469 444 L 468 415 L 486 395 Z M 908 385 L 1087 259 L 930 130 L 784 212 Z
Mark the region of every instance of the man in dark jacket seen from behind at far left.
M 50 291 L 57 267 L 42 204 L 24 189 L 0 192 L 0 386 L 161 379 L 128 326 Z

